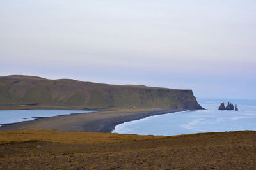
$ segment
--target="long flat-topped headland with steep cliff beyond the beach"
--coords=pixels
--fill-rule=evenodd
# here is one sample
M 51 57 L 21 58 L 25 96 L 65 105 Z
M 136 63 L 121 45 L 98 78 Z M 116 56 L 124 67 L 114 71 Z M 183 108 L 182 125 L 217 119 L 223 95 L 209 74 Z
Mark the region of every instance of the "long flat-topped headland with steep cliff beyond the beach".
M 106 85 L 34 76 L 0 77 L 0 105 L 201 109 L 192 90 Z

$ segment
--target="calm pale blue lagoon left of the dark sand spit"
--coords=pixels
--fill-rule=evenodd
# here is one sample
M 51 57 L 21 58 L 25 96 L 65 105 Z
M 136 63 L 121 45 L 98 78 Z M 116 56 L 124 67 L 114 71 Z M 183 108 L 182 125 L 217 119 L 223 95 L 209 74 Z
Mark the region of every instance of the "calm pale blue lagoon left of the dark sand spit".
M 72 113 L 92 113 L 86 110 L 0 110 L 1 124 L 11 124 L 35 120 L 37 117 L 54 117 L 58 115 L 69 115 Z

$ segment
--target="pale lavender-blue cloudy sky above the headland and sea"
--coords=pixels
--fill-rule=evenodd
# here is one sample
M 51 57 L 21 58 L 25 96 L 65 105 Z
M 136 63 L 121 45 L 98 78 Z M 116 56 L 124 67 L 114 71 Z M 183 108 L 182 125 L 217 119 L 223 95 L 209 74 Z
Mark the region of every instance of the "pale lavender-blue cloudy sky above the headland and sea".
M 256 99 L 254 0 L 1 0 L 0 76 Z

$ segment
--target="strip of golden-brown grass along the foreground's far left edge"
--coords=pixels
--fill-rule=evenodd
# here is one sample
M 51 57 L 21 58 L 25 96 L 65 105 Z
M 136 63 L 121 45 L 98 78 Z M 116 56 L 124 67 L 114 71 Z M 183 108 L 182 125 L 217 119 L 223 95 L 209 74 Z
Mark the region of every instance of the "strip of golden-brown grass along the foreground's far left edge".
M 0 143 L 47 141 L 54 143 L 115 143 L 164 138 L 163 136 L 140 136 L 94 132 L 63 132 L 50 129 L 0 131 Z

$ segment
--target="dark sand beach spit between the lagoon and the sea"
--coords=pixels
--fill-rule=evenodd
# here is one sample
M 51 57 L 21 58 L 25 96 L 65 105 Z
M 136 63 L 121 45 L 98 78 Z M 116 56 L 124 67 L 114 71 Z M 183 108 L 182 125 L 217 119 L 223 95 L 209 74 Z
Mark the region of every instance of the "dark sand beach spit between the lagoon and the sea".
M 0 131 L 25 129 L 54 129 L 68 132 L 112 132 L 115 126 L 132 120 L 186 111 L 185 109 L 117 109 L 97 110 L 93 113 L 74 113 L 55 117 L 41 117 L 37 120 L 3 125 Z

